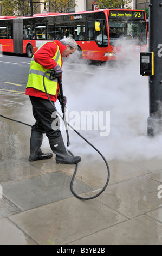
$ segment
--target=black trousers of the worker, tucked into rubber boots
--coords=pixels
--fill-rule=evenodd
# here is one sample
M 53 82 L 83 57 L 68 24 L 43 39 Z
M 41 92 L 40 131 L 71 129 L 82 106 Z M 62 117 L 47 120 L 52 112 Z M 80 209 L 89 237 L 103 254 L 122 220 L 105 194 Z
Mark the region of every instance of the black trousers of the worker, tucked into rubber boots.
M 56 113 L 54 114 L 55 109 L 53 106 L 51 106 L 49 100 L 33 96 L 29 97 L 33 106 L 33 116 L 36 120 L 36 123 L 32 126 L 31 131 L 46 133 L 49 139 L 59 137 L 61 135 L 59 117 L 56 115 Z M 54 128 L 52 127 L 53 121 L 55 121 L 54 123 L 56 124 Z

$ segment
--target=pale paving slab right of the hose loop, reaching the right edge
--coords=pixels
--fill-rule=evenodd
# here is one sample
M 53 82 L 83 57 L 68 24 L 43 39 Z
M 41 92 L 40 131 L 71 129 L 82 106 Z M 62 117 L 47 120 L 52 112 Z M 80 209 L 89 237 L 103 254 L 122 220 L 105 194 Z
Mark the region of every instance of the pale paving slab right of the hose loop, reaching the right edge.
M 140 176 L 108 186 L 97 200 L 133 218 L 161 207 L 159 185 L 155 180 Z M 93 196 L 93 193 L 88 193 L 88 196 Z

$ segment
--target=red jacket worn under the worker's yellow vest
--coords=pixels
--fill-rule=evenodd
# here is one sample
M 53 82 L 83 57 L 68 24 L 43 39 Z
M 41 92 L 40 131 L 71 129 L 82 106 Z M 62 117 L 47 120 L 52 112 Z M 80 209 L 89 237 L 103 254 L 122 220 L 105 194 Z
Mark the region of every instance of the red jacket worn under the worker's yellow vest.
M 61 44 L 60 41 L 55 40 L 57 45 L 59 45 L 59 50 L 61 53 L 61 60 L 62 60 L 62 52 L 66 49 L 66 46 Z M 34 54 L 34 60 L 35 62 L 39 63 L 40 65 L 43 66 L 45 69 L 53 69 L 57 65 L 54 59 L 52 59 L 55 56 L 55 53 L 57 52 L 57 45 L 54 44 L 53 42 L 47 42 L 47 44 L 43 45 L 39 51 L 37 51 Z M 62 64 L 61 67 L 62 68 Z M 57 92 L 59 92 L 59 84 L 57 85 Z M 35 97 L 41 97 L 43 99 L 47 99 L 48 97 L 46 93 L 41 92 L 40 90 L 37 90 L 35 88 L 27 88 L 25 94 L 29 96 L 35 96 Z M 50 100 L 56 102 L 57 100 L 57 94 L 56 95 L 50 95 Z

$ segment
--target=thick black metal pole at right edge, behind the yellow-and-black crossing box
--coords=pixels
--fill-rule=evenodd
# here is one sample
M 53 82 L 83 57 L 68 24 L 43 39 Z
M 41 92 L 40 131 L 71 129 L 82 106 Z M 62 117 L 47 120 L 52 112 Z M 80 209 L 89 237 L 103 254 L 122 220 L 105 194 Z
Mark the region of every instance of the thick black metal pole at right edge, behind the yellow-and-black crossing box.
M 149 7 L 149 51 L 154 53 L 154 75 L 149 78 L 147 133 L 154 136 L 162 131 L 162 0 L 150 0 Z

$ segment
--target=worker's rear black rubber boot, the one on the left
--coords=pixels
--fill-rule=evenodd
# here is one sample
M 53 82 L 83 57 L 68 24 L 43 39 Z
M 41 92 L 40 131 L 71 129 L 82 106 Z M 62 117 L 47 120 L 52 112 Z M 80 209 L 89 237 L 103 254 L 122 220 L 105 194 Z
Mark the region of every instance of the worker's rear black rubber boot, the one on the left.
M 37 161 L 43 159 L 50 159 L 53 157 L 51 153 L 42 153 L 41 145 L 43 141 L 43 134 L 41 132 L 31 131 L 30 138 L 30 156 L 29 161 Z

